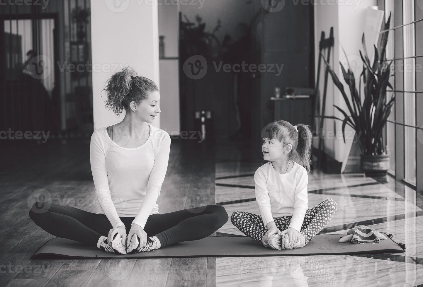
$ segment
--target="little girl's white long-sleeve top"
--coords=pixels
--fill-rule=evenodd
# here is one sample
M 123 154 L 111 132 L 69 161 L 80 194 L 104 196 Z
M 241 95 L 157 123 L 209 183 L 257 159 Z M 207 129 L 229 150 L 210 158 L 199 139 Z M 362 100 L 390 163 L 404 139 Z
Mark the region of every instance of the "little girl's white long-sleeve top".
M 280 174 L 269 161 L 255 171 L 254 182 L 255 198 L 264 225 L 274 221 L 273 217 L 292 215 L 289 227 L 299 232 L 308 208 L 307 170 L 294 162 L 289 172 Z

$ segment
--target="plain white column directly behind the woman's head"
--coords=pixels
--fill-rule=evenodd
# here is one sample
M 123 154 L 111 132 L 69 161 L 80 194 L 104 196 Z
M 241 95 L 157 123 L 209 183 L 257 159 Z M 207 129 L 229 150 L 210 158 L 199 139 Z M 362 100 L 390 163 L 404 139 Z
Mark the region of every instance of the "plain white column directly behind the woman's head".
M 107 79 L 125 66 L 159 85 L 157 5 L 153 1 L 91 0 L 94 129 L 121 121 L 105 105 Z M 160 127 L 160 117 L 153 123 Z

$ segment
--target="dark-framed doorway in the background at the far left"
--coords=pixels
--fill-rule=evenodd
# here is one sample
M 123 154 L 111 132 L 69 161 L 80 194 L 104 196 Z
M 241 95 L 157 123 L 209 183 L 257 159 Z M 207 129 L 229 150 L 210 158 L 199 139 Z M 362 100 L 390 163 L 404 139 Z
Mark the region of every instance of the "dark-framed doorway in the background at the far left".
M 3 15 L 0 19 L 1 129 L 57 131 L 58 15 Z

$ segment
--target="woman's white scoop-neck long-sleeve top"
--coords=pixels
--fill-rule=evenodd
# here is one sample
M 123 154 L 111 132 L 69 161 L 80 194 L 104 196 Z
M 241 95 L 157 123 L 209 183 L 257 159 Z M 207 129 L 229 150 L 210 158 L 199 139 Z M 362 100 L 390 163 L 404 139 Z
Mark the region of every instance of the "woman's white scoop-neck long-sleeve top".
M 168 169 L 170 136 L 150 126 L 147 141 L 137 148 L 123 148 L 99 128 L 91 136 L 90 161 L 98 213 L 113 227 L 124 225 L 119 216 L 135 216 L 132 223 L 145 227 L 156 204 Z

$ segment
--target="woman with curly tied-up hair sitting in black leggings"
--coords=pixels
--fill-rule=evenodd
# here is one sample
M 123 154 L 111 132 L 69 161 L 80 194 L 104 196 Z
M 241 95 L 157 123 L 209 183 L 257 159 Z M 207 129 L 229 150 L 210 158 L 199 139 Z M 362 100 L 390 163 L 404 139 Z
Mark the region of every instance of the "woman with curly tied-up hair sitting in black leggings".
M 222 206 L 159 213 L 156 201 L 168 168 L 170 136 L 147 124 L 160 113 L 157 85 L 124 68 L 104 90 L 106 106 L 126 115 L 91 137 L 98 213 L 35 203 L 30 218 L 52 235 L 122 254 L 198 240 L 222 227 L 228 220 Z

